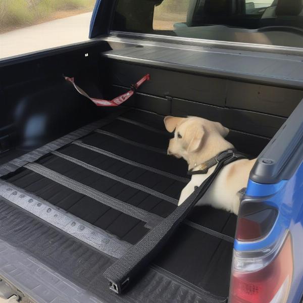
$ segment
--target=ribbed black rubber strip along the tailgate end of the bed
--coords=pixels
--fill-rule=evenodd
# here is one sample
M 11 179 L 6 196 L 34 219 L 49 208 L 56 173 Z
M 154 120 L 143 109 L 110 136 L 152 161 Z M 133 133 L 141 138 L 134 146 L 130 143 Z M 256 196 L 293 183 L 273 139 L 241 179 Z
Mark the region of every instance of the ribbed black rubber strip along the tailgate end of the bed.
M 224 303 L 191 283 L 162 270 L 147 268 L 137 283 L 118 296 L 108 287 L 103 272 L 114 260 L 0 199 L 0 237 L 33 255 L 40 262 L 105 302 Z M 37 241 L 38 239 L 38 241 Z M 64 286 L 64 285 L 63 285 Z

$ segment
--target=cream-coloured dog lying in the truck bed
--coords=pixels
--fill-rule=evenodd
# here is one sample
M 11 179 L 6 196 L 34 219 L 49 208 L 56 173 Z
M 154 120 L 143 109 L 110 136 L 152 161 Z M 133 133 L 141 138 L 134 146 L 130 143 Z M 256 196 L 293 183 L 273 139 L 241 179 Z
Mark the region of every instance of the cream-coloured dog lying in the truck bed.
M 205 169 L 208 160 L 216 157 L 221 151 L 234 148 L 225 139 L 229 129 L 219 122 L 199 117 L 167 116 L 164 124 L 169 132 L 174 132 L 174 137 L 169 141 L 167 154 L 186 160 L 188 171 Z M 241 159 L 224 166 L 197 205 L 211 205 L 238 215 L 239 192 L 247 186 L 249 172 L 255 162 L 256 159 Z M 201 185 L 213 173 L 215 168 L 216 165 L 209 168 L 206 174 L 192 175 L 190 182 L 181 192 L 178 206 L 196 186 Z

